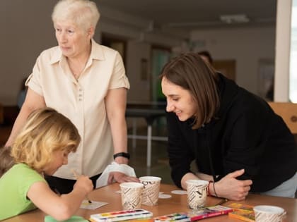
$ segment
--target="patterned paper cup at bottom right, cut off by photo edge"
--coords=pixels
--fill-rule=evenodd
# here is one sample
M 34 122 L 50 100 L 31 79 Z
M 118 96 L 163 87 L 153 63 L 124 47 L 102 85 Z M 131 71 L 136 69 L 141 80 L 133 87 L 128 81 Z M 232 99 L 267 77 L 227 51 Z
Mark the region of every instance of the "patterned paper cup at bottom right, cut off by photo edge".
M 256 222 L 281 222 L 286 214 L 279 206 L 258 205 L 253 209 Z

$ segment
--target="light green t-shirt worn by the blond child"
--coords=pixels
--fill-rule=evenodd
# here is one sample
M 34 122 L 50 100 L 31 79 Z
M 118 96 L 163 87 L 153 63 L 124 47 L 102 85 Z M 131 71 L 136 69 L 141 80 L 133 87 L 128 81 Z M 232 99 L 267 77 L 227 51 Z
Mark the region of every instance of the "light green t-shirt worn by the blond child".
M 27 198 L 33 183 L 45 181 L 26 164 L 16 164 L 0 178 L 0 221 L 36 209 Z

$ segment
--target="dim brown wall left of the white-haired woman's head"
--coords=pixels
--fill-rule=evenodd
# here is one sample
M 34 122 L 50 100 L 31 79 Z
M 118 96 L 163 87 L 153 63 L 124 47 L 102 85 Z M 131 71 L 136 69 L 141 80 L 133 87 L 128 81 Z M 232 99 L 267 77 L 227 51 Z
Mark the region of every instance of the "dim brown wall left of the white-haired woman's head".
M 16 104 L 25 76 L 43 49 L 56 44 L 51 11 L 56 1 L 0 1 L 0 103 Z

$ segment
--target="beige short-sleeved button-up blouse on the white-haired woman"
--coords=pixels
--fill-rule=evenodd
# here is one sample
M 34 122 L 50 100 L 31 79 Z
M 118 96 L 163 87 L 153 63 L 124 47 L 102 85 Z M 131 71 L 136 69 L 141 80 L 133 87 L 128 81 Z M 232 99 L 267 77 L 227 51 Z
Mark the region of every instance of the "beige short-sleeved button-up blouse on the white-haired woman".
M 27 82 L 31 90 L 44 97 L 47 106 L 67 116 L 81 135 L 76 153 L 69 154 L 68 164 L 54 175 L 74 179 L 71 169 L 90 177 L 102 173 L 113 154 L 104 99 L 108 90 L 129 89 L 120 54 L 92 40 L 91 56 L 76 80 L 62 51 L 53 47 L 37 58 Z

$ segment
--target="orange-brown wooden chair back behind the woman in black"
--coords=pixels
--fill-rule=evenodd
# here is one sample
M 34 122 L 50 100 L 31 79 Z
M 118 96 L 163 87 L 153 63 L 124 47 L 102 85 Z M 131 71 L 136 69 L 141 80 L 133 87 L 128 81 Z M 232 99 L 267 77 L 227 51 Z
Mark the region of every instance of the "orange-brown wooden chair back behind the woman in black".
M 268 104 L 272 107 L 274 112 L 283 118 L 286 125 L 293 133 L 297 135 L 297 104 L 291 102 L 273 102 L 269 101 Z

